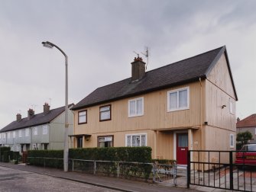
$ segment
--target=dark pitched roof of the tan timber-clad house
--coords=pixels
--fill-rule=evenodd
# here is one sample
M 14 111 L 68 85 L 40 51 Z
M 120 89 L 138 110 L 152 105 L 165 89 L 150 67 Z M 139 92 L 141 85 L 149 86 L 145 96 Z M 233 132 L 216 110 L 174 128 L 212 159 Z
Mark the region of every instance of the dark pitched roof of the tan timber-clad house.
M 97 88 L 86 98 L 83 98 L 82 101 L 79 101 L 72 110 L 128 98 L 173 85 L 183 85 L 187 82 L 198 81 L 199 78 L 206 78 L 223 53 L 225 53 L 228 62 L 225 46 L 222 46 L 218 49 L 146 72 L 145 76 L 138 82 L 131 82 L 131 78 L 126 78 L 120 82 Z M 228 70 L 232 78 L 229 62 Z M 235 91 L 233 80 L 232 84 Z

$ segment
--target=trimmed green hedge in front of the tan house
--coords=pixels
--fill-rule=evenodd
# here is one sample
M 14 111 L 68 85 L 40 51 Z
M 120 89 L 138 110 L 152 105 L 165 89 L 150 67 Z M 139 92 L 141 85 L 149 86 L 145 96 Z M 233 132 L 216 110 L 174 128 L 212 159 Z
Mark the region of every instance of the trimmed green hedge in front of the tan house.
M 111 148 L 86 148 L 70 149 L 69 159 L 83 159 L 96 162 L 97 174 L 108 174 L 117 176 L 117 166 L 119 166 L 119 175 L 125 178 L 149 178 L 151 174 L 151 165 L 140 164 L 151 163 L 150 147 L 111 147 Z M 57 159 L 60 158 L 60 159 Z M 117 162 L 125 162 L 118 163 Z M 140 163 L 127 163 L 140 162 Z M 63 168 L 63 150 L 31 150 L 28 151 L 28 163 L 31 165 Z M 73 163 L 73 166 L 72 166 Z M 93 173 L 93 162 L 76 161 L 69 162 L 70 168 L 76 168 L 79 171 Z

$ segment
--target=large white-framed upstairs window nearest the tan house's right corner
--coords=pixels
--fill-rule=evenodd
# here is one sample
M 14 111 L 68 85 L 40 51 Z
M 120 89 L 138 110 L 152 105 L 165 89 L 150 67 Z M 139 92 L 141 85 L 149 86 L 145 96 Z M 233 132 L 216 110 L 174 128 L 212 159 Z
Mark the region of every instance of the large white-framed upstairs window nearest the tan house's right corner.
M 190 88 L 180 88 L 167 92 L 167 111 L 190 108 Z

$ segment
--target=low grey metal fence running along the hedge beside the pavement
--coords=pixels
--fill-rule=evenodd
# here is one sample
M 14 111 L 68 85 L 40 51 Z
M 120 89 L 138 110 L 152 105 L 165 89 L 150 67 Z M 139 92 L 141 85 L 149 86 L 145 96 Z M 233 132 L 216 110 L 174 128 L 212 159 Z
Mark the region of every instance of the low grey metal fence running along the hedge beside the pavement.
M 28 157 L 32 165 L 63 168 L 63 158 Z M 69 171 L 101 174 L 117 178 L 144 179 L 152 182 L 173 180 L 176 185 L 177 165 L 141 162 L 110 162 L 69 159 Z

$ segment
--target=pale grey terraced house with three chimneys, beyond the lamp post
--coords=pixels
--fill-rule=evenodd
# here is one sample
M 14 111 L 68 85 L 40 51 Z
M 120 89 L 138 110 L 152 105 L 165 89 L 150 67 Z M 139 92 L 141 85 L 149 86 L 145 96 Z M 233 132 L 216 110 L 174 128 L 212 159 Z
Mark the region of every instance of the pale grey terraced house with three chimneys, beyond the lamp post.
M 69 109 L 73 104 L 69 105 Z M 73 134 L 73 112 L 68 111 L 69 134 Z M 34 114 L 28 110 L 28 117 L 16 120 L 0 130 L 0 146 L 10 146 L 12 151 L 23 152 L 30 149 L 63 149 L 64 148 L 65 107 L 50 110 L 44 104 L 44 112 Z M 70 143 L 70 146 L 73 146 Z

